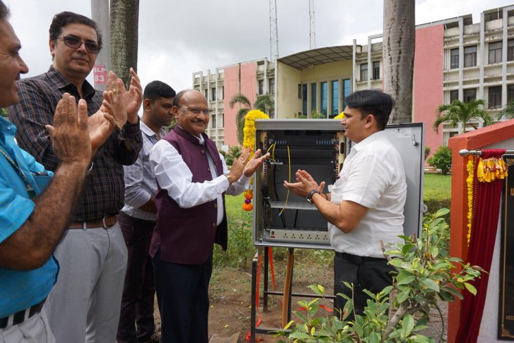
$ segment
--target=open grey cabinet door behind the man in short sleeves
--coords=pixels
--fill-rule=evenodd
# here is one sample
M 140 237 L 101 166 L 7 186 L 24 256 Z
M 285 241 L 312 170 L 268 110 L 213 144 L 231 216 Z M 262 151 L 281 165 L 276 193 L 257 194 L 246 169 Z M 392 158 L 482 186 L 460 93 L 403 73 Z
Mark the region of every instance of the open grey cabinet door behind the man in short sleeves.
M 407 182 L 407 200 L 404 207 L 404 233 L 419 237 L 423 217 L 423 185 L 425 162 L 425 123 L 406 123 L 388 125 L 385 132 L 393 143 L 404 163 Z M 347 154 L 354 143 L 348 141 Z

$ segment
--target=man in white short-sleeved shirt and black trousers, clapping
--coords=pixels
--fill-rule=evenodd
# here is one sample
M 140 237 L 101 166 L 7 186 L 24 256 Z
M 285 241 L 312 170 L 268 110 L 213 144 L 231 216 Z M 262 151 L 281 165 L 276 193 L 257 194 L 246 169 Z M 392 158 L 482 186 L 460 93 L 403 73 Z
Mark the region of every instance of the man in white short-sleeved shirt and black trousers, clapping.
M 345 136 L 356 143 L 344 161 L 339 179 L 331 193 L 323 193 L 304 170 L 296 173 L 297 182 L 284 181 L 284 186 L 297 196 L 315 204 L 328 220 L 330 244 L 334 257 L 334 294 L 352 298 L 352 290 L 343 281 L 354 284 L 356 314 L 362 314 L 368 296 L 391 285 L 394 269 L 384 259 L 380 241 L 391 244 L 402 241 L 404 204 L 407 187 L 400 153 L 383 130 L 394 105 L 390 95 L 365 90 L 346 99 Z M 346 300 L 336 298 L 336 308 L 343 310 Z M 350 316 L 353 318 L 353 316 Z

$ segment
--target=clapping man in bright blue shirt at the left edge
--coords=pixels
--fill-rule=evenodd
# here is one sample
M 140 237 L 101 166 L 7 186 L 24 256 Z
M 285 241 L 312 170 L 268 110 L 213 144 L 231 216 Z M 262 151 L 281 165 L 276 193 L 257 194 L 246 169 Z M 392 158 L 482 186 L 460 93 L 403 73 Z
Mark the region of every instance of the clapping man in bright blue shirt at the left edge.
M 28 71 L 8 16 L 0 0 L 1 108 L 19 102 L 16 80 Z M 16 145 L 16 127 L 0 118 L 1 342 L 55 342 L 41 313 L 58 274 L 52 253 L 71 220 L 92 152 L 106 141 L 117 121 L 126 120 L 125 89 L 121 82 L 114 88 L 104 95 L 101 110 L 90 117 L 84 100 L 77 105 L 75 97 L 63 95 L 53 126 L 47 126 L 61 161 L 55 174 Z

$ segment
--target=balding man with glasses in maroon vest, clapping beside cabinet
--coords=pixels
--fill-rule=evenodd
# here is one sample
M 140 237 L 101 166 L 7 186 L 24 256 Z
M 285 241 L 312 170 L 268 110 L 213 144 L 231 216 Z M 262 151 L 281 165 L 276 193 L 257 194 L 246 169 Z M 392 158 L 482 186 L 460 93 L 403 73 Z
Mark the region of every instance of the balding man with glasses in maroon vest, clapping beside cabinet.
M 238 195 L 267 158 L 249 149 L 228 171 L 215 143 L 204 133 L 207 100 L 199 91 L 179 92 L 173 101 L 175 129 L 150 152 L 159 190 L 157 224 L 151 239 L 162 343 L 208 342 L 208 285 L 212 247 L 227 248 L 225 193 Z

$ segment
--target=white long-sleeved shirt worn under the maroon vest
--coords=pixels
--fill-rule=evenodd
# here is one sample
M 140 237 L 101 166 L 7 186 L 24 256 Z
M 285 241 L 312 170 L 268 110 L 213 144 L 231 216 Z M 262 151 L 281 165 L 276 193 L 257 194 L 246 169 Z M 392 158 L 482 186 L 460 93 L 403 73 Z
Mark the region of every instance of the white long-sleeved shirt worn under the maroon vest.
M 204 137 L 201 135 L 196 138 L 199 143 L 204 143 Z M 207 156 L 209 157 L 208 154 Z M 219 157 L 221 163 L 223 163 L 223 174 L 228 174 L 229 170 L 225 158 L 221 154 L 219 154 Z M 191 173 L 182 156 L 173 145 L 164 140 L 158 141 L 151 149 L 150 164 L 154 169 L 160 188 L 166 189 L 168 196 L 175 200 L 180 207 L 188 209 L 216 199 L 218 202 L 217 225 L 221 224 L 223 220 L 223 192 L 231 196 L 237 196 L 249 186 L 250 179 L 244 173 L 232 185 L 229 185 L 228 179 L 224 175 L 213 177 L 210 181 L 193 182 L 193 173 Z M 211 166 L 210 170 L 212 174 L 216 173 L 215 167 Z

